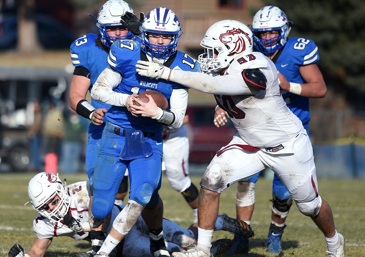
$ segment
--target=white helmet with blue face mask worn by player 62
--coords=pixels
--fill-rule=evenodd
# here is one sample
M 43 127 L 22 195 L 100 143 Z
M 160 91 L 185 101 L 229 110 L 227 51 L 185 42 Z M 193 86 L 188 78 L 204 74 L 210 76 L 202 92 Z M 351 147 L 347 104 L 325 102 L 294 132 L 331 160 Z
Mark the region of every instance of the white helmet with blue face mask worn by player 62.
M 280 8 L 272 5 L 262 7 L 252 20 L 254 47 L 264 54 L 273 53 L 284 47 L 292 24 Z M 279 31 L 279 36 L 261 39 L 260 32 L 276 30 Z

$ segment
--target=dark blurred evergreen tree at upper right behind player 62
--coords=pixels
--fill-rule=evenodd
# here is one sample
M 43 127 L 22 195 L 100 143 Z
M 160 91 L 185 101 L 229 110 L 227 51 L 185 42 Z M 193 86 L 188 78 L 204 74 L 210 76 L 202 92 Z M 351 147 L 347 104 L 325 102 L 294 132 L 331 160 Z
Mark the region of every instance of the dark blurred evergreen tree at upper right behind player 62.
M 278 6 L 293 21 L 289 36 L 316 42 L 318 66 L 328 85 L 337 91 L 351 87 L 365 92 L 365 1 L 264 0 L 264 4 Z

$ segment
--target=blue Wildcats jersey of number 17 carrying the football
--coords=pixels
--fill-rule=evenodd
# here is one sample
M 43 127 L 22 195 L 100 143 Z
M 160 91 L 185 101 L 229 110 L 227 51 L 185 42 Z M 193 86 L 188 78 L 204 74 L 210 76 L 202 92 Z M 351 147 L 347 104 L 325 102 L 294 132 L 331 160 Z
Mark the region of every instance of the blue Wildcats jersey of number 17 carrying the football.
M 146 90 L 156 90 L 164 94 L 170 104 L 173 89 L 187 88 L 164 79 L 156 80 L 139 75 L 135 67 L 138 60 L 148 61 L 146 55 L 141 51 L 141 41 L 118 40 L 112 44 L 108 65 L 122 75 L 122 82 L 114 89 L 115 92 L 131 95 Z M 178 66 L 184 71 L 200 72 L 200 64 L 180 51 L 176 51 L 176 54 L 165 62 L 165 66 L 169 68 Z M 127 107 L 112 106 L 105 116 L 111 123 L 124 128 L 142 130 L 147 133 L 160 133 L 162 130 L 162 125 L 155 119 L 135 117 L 127 110 Z

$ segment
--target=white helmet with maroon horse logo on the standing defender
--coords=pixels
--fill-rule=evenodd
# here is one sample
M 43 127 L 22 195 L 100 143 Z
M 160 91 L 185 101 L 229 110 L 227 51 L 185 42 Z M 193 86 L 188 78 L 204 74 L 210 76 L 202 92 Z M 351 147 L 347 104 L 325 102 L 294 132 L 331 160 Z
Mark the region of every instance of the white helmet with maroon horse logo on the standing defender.
M 200 46 L 204 47 L 204 54 L 199 55 L 201 70 L 220 71 L 238 56 L 252 52 L 252 32 L 237 20 L 218 21 L 205 32 Z

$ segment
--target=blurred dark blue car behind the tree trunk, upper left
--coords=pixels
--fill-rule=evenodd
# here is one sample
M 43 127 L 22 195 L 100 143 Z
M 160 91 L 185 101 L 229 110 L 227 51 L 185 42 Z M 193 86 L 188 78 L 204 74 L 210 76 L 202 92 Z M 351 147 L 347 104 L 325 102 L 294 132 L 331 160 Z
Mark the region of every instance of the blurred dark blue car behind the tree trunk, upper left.
M 51 16 L 37 13 L 35 20 L 38 26 L 38 39 L 47 49 L 69 48 L 73 34 L 61 22 Z M 15 15 L 0 16 L 0 50 L 16 48 L 18 20 Z

